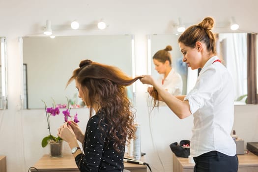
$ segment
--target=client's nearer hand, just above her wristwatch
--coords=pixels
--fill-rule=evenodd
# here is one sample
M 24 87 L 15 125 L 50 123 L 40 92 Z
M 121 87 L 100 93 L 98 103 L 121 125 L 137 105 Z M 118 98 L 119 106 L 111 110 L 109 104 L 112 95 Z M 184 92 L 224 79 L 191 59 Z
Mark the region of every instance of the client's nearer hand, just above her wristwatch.
M 76 140 L 76 136 L 73 132 L 73 129 L 70 125 L 67 125 L 67 123 L 61 125 L 57 131 L 57 136 L 62 138 L 67 143 L 73 141 L 74 139 Z

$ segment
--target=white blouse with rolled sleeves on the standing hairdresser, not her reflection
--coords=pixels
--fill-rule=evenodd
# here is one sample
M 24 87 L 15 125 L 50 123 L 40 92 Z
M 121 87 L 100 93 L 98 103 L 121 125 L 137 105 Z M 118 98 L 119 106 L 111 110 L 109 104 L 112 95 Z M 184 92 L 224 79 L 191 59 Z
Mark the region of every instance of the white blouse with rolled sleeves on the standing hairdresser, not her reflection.
M 190 153 L 193 157 L 212 150 L 229 156 L 236 154 L 230 136 L 234 121 L 234 86 L 227 68 L 217 56 L 201 69 L 196 85 L 186 95 L 194 115 Z M 213 63 L 214 62 L 214 63 Z

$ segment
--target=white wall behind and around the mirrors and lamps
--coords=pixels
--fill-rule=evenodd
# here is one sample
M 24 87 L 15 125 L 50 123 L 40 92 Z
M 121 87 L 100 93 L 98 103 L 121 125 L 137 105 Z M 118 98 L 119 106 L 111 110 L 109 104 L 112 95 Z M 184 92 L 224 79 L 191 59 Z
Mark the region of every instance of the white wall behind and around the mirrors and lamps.
M 0 111 L 0 154 L 7 156 L 7 172 L 27 172 L 48 152 L 47 148 L 41 148 L 40 145 L 41 139 L 47 134 L 44 110 L 20 111 L 19 36 L 40 34 L 47 19 L 52 21 L 52 25 L 67 24 L 74 19 L 88 25 L 103 18 L 109 24 L 106 30 L 68 32 L 135 35 L 136 75 L 142 75 L 147 73 L 148 34 L 173 33 L 171 26 L 178 17 L 185 23 L 194 24 L 205 16 L 214 17 L 218 23 L 228 22 L 230 16 L 234 16 L 242 31 L 258 32 L 257 7 L 258 1 L 255 0 L 0 0 L 0 36 L 6 36 L 8 58 L 8 110 Z M 229 32 L 229 29 L 215 30 Z M 172 172 L 169 144 L 190 139 L 192 117 L 179 120 L 166 107 L 149 115 L 146 86 L 137 82 L 136 88 L 135 108 L 136 118 L 141 124 L 142 151 L 146 152 L 153 172 Z M 258 141 L 257 112 L 258 105 L 235 107 L 233 129 L 245 142 Z M 82 119 L 80 124 L 85 124 L 87 111 L 80 110 L 78 114 Z M 59 126 L 61 116 L 55 121 L 53 128 Z M 65 150 L 69 151 L 67 147 Z

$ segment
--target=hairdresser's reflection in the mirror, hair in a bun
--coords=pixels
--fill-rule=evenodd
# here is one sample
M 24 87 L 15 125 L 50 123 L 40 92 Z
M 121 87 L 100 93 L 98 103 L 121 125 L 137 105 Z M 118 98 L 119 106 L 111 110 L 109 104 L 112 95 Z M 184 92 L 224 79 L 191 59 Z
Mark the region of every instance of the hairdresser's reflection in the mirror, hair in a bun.
M 172 67 L 172 56 L 169 51 L 172 51 L 172 46 L 168 45 L 164 50 L 159 50 L 152 57 L 155 65 L 155 70 L 161 74 L 158 82 L 172 95 L 181 95 L 183 89 L 183 81 Z

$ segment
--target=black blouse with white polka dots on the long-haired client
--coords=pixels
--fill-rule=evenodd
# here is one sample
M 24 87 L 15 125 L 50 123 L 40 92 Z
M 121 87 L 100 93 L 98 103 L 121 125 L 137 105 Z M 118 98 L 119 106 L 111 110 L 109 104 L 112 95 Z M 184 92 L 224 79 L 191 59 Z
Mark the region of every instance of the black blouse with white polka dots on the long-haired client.
M 84 140 L 84 153 L 75 157 L 80 172 L 122 172 L 124 169 L 124 146 L 113 147 L 113 141 L 106 137 L 109 127 L 105 114 L 101 111 L 89 118 Z M 100 125 L 103 127 L 99 127 Z

